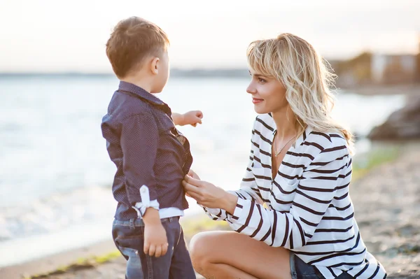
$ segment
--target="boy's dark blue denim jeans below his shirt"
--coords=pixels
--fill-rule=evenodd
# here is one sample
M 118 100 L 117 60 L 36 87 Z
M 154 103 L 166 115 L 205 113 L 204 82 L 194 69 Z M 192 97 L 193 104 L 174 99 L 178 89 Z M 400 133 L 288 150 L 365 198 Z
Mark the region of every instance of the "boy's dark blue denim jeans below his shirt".
M 144 222 L 114 220 L 112 236 L 118 250 L 127 259 L 127 279 L 195 279 L 190 253 L 183 238 L 179 217 L 161 219 L 167 231 L 168 250 L 165 256 L 150 257 L 143 252 Z

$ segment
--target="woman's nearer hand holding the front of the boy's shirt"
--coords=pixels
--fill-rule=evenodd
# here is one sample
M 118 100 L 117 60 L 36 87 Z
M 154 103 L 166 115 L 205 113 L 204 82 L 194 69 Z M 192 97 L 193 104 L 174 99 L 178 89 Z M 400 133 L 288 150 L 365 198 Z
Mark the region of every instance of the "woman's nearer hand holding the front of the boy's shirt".
M 197 175 L 195 174 L 195 176 Z M 195 199 L 202 206 L 222 208 L 229 213 L 235 211 L 237 196 L 229 194 L 221 187 L 216 187 L 207 181 L 200 180 L 200 178 L 196 179 L 189 175 L 184 178 L 182 185 L 188 196 Z

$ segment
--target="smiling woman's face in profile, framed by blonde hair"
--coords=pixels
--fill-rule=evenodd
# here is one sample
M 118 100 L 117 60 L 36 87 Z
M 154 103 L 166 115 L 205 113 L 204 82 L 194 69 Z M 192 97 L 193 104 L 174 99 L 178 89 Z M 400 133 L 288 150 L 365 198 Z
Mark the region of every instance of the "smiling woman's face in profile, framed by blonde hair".
M 276 113 L 287 108 L 286 88 L 279 80 L 249 70 L 251 83 L 246 92 L 251 94 L 255 112 L 258 114 Z

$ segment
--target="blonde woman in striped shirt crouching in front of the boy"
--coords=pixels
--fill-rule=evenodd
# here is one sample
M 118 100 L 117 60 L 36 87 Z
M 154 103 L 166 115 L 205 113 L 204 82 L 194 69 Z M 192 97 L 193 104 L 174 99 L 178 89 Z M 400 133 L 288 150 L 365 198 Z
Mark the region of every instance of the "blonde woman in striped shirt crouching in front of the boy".
M 190 253 L 207 278 L 385 278 L 367 252 L 349 196 L 351 133 L 331 117 L 332 73 L 302 38 L 248 48 L 255 120 L 240 189 L 190 172 L 189 196 L 235 231 L 197 234 Z

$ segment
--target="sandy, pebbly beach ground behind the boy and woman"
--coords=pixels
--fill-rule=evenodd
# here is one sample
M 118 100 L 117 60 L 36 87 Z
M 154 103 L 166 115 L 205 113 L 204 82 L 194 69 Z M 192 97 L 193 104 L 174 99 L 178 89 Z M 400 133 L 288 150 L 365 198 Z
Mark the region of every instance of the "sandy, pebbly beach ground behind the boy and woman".
M 353 180 L 351 198 L 367 248 L 384 264 L 388 278 L 420 278 L 420 145 L 413 143 L 401 149 L 397 159 L 380 164 L 361 178 Z M 200 218 L 207 217 L 203 214 Z M 209 223 L 204 222 L 208 226 Z M 187 223 L 188 220 L 185 220 L 186 227 Z M 204 229 L 211 228 L 198 226 L 192 231 Z M 186 233 L 187 238 L 192 234 Z M 123 257 L 114 256 L 102 264 L 91 260 L 75 265 L 78 259 L 80 262 L 80 259 L 110 252 L 115 252 L 111 240 L 0 269 L 0 278 L 30 278 L 70 264 L 73 266 L 67 271 L 33 278 L 124 278 Z

